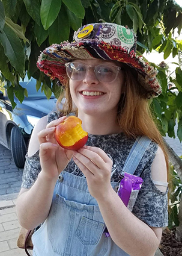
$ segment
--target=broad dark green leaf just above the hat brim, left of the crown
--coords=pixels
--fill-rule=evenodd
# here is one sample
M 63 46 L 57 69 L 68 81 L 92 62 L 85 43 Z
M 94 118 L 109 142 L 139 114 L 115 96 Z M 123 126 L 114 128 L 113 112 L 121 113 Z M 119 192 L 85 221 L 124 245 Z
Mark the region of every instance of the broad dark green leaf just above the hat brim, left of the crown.
M 67 20 L 67 22 L 65 22 Z M 65 5 L 62 4 L 61 11 L 52 26 L 49 28 L 49 43 L 61 43 L 68 40 L 70 34 L 70 22 L 65 10 Z

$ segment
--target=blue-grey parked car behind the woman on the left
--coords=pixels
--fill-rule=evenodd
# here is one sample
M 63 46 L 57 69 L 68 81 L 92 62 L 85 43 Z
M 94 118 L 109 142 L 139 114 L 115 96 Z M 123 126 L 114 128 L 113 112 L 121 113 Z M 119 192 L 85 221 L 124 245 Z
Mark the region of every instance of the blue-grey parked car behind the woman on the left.
M 25 155 L 29 138 L 37 121 L 47 113 L 55 110 L 56 98 L 54 95 L 47 99 L 41 90 L 35 88 L 36 80 L 31 78 L 20 82 L 28 90 L 22 104 L 14 96 L 16 107 L 13 109 L 7 90 L 0 92 L 0 143 L 11 150 L 14 163 L 22 168 L 25 164 Z

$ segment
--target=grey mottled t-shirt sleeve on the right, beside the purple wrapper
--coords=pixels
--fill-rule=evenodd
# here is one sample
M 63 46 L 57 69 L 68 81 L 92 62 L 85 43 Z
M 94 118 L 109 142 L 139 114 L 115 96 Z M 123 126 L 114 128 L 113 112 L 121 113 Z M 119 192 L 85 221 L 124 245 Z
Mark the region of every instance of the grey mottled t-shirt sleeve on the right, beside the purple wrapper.
M 152 162 L 153 159 L 142 172 L 144 182 L 132 212 L 147 225 L 159 228 L 168 226 L 168 189 L 162 192 L 154 185 L 151 178 Z

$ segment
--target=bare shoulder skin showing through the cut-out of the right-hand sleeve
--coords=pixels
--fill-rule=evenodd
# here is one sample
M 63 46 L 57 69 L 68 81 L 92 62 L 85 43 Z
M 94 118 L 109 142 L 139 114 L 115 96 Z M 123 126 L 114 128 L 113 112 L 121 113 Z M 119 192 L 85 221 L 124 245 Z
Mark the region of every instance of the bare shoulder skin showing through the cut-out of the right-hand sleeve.
M 154 158 L 153 164 L 151 166 L 151 176 L 153 181 L 157 181 L 157 183 L 167 183 L 168 181 L 168 173 L 165 161 L 165 155 L 162 149 L 159 147 L 156 152 L 156 157 Z M 166 191 L 165 186 L 156 185 L 163 192 Z

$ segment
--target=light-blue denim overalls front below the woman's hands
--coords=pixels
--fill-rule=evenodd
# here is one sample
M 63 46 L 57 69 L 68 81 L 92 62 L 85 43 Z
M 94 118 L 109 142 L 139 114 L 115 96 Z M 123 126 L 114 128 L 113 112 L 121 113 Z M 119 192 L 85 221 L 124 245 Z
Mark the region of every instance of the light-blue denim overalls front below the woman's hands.
M 115 189 L 118 183 L 111 183 Z M 122 227 L 121 227 L 122 228 Z M 86 179 L 62 172 L 52 207 L 33 234 L 34 256 L 129 256 L 105 235 L 106 225 Z

